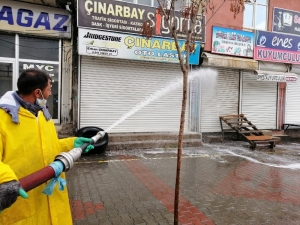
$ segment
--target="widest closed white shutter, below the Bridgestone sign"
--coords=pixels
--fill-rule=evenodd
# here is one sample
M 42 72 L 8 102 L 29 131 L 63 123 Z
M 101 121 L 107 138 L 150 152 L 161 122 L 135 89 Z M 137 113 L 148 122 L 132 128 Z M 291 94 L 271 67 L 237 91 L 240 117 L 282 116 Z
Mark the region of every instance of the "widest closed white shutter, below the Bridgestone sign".
M 168 84 L 182 82 L 178 64 L 81 57 L 79 127 L 106 130 Z M 181 78 L 181 79 L 180 79 Z M 126 118 L 109 132 L 178 132 L 182 84 Z M 189 104 L 185 132 L 188 131 Z

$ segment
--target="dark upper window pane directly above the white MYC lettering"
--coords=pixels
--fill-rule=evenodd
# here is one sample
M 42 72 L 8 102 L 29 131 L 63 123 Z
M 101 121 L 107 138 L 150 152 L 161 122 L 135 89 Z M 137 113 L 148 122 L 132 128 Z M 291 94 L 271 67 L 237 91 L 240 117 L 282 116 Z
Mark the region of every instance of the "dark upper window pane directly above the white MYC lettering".
M 59 41 L 20 37 L 20 58 L 46 61 L 59 60 Z

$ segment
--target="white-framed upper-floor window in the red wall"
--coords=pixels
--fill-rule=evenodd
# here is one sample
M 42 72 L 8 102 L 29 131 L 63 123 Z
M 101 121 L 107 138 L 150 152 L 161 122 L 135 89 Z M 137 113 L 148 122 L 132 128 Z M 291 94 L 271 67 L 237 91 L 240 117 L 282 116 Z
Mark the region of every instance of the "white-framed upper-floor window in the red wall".
M 244 28 L 267 29 L 268 0 L 250 0 L 245 3 Z

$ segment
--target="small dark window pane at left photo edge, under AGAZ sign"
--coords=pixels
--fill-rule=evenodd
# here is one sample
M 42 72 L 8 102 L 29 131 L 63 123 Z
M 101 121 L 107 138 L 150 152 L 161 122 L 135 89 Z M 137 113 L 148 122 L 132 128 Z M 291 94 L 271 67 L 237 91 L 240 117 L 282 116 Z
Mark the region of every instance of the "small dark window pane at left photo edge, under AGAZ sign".
M 0 34 L 0 57 L 15 57 L 15 35 Z

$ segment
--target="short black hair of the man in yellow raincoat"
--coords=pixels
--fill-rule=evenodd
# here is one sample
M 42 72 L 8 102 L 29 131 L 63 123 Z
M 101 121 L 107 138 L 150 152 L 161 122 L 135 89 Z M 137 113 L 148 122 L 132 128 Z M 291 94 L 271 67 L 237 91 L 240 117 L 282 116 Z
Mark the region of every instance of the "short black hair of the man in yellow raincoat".
M 19 94 L 29 95 L 35 89 L 42 91 L 47 87 L 51 77 L 43 70 L 27 69 L 19 76 L 17 86 Z

